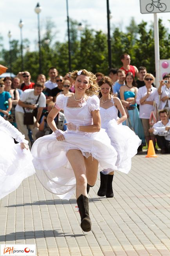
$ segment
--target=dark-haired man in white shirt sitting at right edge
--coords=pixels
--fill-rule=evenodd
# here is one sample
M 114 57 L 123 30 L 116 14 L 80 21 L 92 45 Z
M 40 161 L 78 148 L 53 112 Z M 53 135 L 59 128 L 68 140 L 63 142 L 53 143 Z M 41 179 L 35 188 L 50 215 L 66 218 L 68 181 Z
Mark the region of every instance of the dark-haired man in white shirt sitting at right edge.
M 158 121 L 149 129 L 150 133 L 156 135 L 157 145 L 161 153 L 170 153 L 170 119 L 168 119 L 168 110 L 159 111 L 161 121 Z

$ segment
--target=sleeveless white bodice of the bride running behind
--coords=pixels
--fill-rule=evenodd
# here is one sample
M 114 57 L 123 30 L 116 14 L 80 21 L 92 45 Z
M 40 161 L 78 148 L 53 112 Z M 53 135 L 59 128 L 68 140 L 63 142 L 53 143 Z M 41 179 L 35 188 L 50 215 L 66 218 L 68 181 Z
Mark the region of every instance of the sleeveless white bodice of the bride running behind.
M 101 116 L 101 128 L 106 128 L 107 123 L 110 120 L 117 120 L 118 118 L 118 109 L 114 106 L 114 101 L 112 100 L 113 106 L 108 109 L 103 109 L 100 107 L 100 116 Z

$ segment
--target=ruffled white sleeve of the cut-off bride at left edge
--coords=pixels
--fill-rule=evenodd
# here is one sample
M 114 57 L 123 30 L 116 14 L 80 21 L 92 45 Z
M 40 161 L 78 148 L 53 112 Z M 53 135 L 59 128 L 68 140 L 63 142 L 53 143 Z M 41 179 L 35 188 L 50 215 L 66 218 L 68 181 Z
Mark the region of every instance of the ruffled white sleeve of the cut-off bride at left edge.
M 1 127 L 5 128 L 7 132 L 11 135 L 11 137 L 13 137 L 17 142 L 23 142 L 25 144 L 28 144 L 28 141 L 25 140 L 25 135 L 20 133 L 18 129 L 16 129 L 11 123 L 9 123 L 2 117 L 0 118 L 0 129 Z

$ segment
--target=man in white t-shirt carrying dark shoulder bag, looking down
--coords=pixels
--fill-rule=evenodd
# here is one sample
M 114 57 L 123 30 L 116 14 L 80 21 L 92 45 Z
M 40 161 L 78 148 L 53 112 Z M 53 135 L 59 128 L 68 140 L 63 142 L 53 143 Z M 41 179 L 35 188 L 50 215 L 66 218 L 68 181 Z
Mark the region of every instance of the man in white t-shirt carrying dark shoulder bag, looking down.
M 31 141 L 28 136 L 28 129 L 31 129 L 33 135 L 33 141 L 36 139 L 35 134 L 38 132 L 39 120 L 42 115 L 43 108 L 46 107 L 46 98 L 42 92 L 43 84 L 35 84 L 34 89 L 25 90 L 18 104 L 15 108 L 15 118 L 18 130 L 25 135 L 25 139 L 29 141 L 29 147 L 31 148 Z M 38 99 L 39 97 L 39 99 Z M 37 102 L 38 99 L 38 102 Z M 37 103 L 36 103 L 37 102 Z M 33 112 L 38 109 L 36 118 L 34 117 L 33 125 L 24 124 L 24 109 L 25 112 Z

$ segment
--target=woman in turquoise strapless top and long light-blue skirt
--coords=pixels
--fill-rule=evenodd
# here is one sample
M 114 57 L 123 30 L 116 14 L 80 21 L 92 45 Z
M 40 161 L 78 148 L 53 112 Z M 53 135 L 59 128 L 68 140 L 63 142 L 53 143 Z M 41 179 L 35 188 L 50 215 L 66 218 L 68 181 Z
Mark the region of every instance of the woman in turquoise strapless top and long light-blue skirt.
M 128 72 L 125 79 L 125 86 L 120 88 L 120 99 L 127 113 L 127 120 L 123 122 L 123 125 L 128 125 L 145 144 L 145 136 L 143 126 L 139 118 L 139 111 L 136 104 L 137 87 L 134 76 L 131 72 Z

